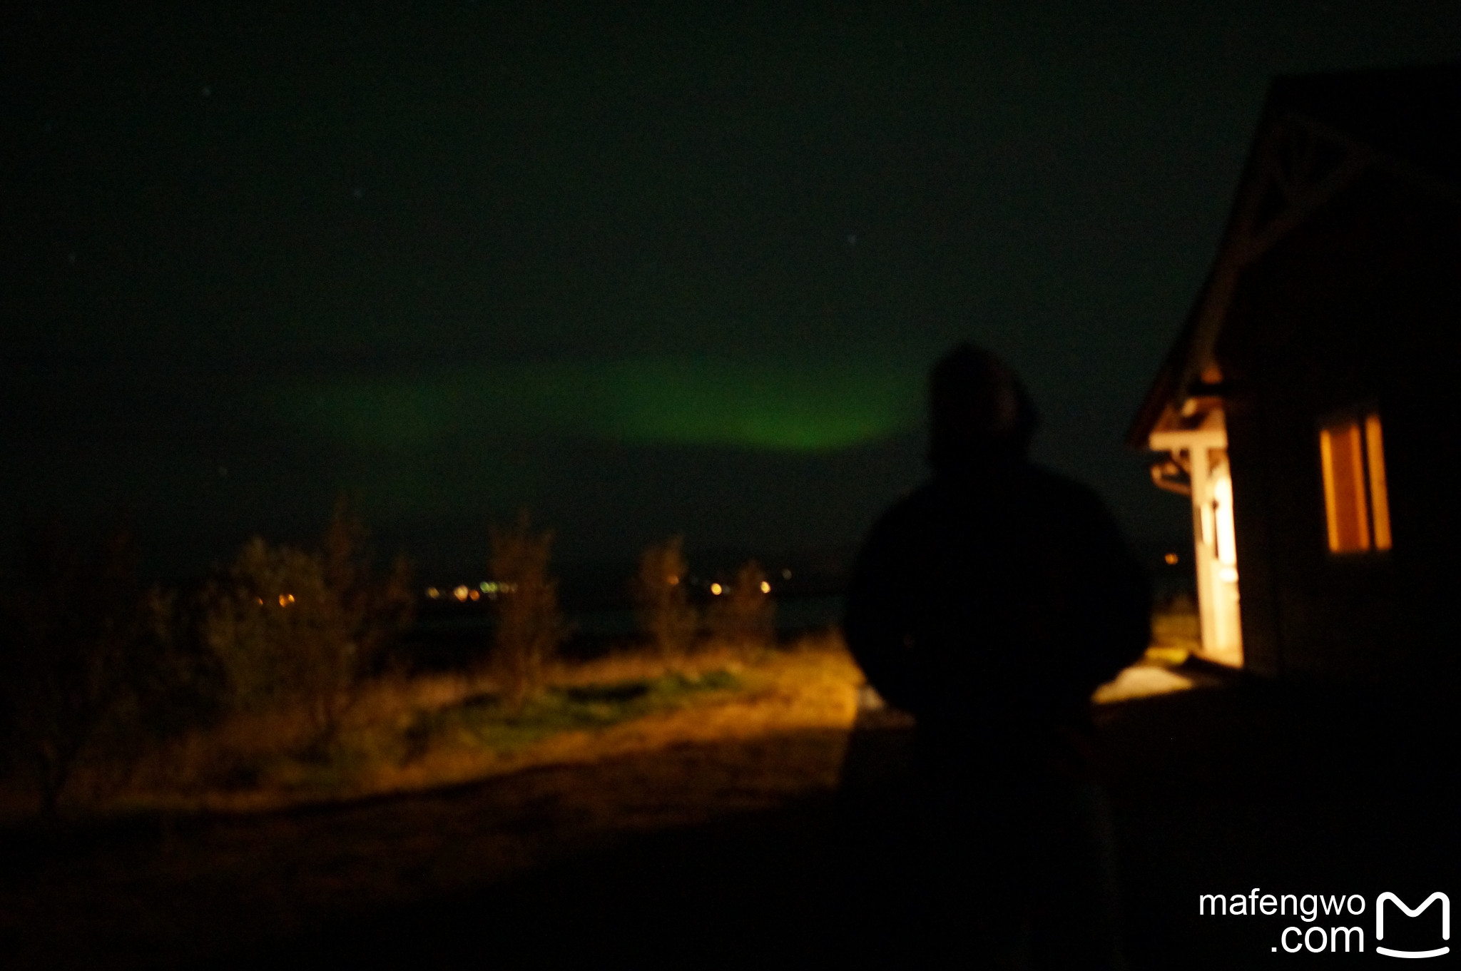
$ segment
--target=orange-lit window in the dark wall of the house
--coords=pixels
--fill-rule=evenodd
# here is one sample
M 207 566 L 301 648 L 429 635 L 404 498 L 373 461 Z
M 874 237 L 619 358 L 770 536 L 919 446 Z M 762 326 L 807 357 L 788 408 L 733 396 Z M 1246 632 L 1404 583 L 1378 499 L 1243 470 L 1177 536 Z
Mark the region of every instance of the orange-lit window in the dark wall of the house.
M 1389 496 L 1379 415 L 1350 415 L 1321 426 L 1319 460 L 1330 552 L 1389 549 Z

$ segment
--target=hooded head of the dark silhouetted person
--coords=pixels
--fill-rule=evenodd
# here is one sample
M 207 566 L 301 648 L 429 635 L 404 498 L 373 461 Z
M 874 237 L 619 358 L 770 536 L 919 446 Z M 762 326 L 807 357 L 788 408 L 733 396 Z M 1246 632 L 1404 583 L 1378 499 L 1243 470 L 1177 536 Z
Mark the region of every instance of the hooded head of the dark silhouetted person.
M 961 343 L 934 365 L 928 381 L 928 461 L 958 475 L 1023 458 L 1039 415 L 1020 380 L 993 353 Z

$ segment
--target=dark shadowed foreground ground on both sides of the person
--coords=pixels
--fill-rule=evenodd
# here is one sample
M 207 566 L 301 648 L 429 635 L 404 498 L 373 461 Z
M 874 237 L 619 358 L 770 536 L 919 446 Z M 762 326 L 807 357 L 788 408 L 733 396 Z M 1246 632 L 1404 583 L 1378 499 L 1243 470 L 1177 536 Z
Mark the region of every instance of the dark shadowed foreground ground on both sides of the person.
M 1131 967 L 1311 956 L 1273 951 L 1293 918 L 1199 917 L 1201 894 L 1455 895 L 1449 713 L 1197 680 L 1099 708 Z M 858 837 L 881 803 L 837 790 L 847 705 L 726 713 L 653 749 L 349 806 L 10 832 L 0 951 L 104 968 L 916 964 L 918 916 Z M 897 791 L 907 740 L 861 730 L 866 793 Z

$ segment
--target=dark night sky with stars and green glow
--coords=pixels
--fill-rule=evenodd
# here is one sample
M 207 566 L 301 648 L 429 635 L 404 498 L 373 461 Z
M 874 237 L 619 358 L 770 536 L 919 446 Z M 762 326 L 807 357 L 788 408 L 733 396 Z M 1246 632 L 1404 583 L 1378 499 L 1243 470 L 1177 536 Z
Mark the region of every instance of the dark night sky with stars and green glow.
M 834 549 L 970 339 L 1180 537 L 1121 440 L 1268 79 L 1461 55 L 1454 0 L 621 6 L 0 15 L 6 534 Z

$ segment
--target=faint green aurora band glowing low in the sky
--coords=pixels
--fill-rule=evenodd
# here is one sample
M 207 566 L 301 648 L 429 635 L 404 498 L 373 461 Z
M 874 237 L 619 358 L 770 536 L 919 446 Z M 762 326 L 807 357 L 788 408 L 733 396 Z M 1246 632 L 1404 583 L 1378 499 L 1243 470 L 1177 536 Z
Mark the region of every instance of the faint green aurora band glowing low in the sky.
M 279 421 L 368 453 L 476 431 L 628 444 L 827 453 L 915 428 L 922 365 L 767 361 L 526 362 L 279 385 Z

